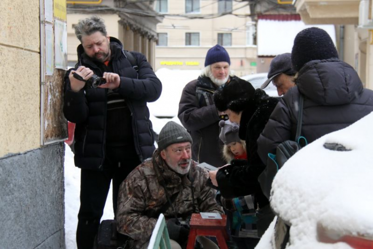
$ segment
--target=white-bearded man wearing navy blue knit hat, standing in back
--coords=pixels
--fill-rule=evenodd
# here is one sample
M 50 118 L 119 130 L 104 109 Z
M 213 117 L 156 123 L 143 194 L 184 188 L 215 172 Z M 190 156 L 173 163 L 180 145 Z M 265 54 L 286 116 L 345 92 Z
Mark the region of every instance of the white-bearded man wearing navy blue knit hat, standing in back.
M 189 82 L 182 93 L 178 117 L 193 138 L 193 160 L 219 167 L 225 164 L 220 151 L 219 121 L 225 119 L 217 111 L 212 95 L 236 76 L 230 71 L 227 50 L 215 45 L 207 51 L 205 68 L 198 79 Z

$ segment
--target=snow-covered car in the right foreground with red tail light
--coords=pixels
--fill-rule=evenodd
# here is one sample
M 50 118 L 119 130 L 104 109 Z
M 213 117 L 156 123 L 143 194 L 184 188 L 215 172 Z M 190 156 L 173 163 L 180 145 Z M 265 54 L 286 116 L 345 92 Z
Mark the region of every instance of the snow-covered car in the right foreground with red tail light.
M 294 154 L 272 184 L 256 249 L 373 249 L 373 113 Z

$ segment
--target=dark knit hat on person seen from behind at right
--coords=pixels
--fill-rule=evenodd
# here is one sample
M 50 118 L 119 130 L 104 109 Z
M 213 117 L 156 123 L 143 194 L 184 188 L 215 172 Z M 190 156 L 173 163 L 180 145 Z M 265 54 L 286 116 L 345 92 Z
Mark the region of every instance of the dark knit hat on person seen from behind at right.
M 325 30 L 311 27 L 303 29 L 295 36 L 291 63 L 296 71 L 309 61 L 330 58 L 338 58 L 338 52 Z

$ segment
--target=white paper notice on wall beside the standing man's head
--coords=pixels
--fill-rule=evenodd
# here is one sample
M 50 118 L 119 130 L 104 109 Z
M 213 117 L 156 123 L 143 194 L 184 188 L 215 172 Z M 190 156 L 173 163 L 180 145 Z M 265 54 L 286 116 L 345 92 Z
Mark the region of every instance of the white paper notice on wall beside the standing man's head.
M 55 67 L 67 70 L 67 26 L 66 22 L 54 20 Z

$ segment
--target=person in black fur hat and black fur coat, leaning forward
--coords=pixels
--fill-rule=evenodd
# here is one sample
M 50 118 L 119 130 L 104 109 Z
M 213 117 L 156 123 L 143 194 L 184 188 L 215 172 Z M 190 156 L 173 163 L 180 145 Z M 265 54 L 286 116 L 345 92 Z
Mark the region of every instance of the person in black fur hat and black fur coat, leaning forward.
M 239 137 L 246 141 L 248 160 L 234 159 L 230 165 L 210 171 L 210 179 L 224 198 L 254 195 L 258 235 L 262 236 L 274 214 L 258 182 L 265 164 L 257 153 L 257 139 L 278 99 L 269 97 L 261 89 L 255 90 L 242 79 L 232 79 L 223 89 L 216 91 L 213 97 L 216 108 L 227 114 L 231 122 L 240 124 Z

